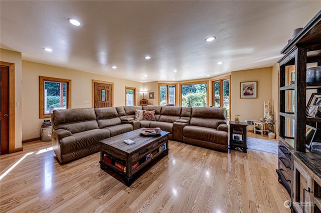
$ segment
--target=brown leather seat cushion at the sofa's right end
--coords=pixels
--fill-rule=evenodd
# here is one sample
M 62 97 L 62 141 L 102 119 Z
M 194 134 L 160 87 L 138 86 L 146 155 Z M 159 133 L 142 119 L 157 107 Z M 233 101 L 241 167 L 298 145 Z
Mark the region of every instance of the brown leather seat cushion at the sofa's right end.
M 187 125 L 183 128 L 183 135 L 184 137 L 190 137 L 224 145 L 228 144 L 228 132 L 219 131 L 215 128 Z

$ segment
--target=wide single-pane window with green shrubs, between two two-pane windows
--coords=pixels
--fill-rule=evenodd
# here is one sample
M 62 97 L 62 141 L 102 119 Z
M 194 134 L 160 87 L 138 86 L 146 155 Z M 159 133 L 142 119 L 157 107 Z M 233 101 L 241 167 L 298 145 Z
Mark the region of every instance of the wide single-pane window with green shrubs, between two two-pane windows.
M 182 106 L 207 106 L 208 81 L 180 83 Z

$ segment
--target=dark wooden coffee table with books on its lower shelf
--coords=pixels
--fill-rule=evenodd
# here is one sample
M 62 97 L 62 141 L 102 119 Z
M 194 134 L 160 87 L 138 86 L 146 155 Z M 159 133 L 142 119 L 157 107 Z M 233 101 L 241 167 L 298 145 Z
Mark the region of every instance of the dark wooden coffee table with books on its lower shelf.
M 143 129 L 143 128 L 140 128 Z M 131 185 L 132 177 L 147 164 L 169 153 L 168 131 L 156 135 L 142 135 L 136 129 L 100 140 L 100 168 L 112 168 Z M 125 139 L 135 141 L 126 144 Z

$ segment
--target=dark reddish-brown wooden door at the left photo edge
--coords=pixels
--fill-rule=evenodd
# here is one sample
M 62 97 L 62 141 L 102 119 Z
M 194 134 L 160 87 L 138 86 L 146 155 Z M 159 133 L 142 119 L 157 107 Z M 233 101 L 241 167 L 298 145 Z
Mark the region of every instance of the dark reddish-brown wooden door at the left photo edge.
M 1 106 L 0 106 L 0 128 L 1 147 L 0 154 L 9 153 L 9 67 L 1 66 Z

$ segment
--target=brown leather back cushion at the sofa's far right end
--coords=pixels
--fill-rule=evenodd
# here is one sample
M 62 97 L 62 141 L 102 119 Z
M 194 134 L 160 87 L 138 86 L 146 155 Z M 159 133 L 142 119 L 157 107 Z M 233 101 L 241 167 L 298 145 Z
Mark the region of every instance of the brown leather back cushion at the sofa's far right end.
M 226 108 L 193 107 L 190 125 L 217 128 L 221 123 L 226 123 Z

